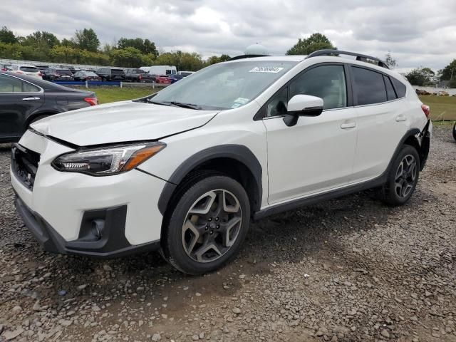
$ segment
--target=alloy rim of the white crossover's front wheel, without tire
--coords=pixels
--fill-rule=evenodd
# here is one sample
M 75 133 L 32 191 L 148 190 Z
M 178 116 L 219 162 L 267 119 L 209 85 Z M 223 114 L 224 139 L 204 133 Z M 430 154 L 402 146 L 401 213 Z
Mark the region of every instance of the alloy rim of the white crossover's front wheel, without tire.
M 242 224 L 242 208 L 227 190 L 211 190 L 199 197 L 182 224 L 182 245 L 198 262 L 219 259 L 236 242 Z

